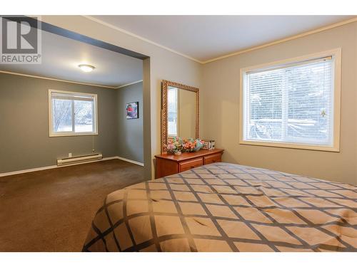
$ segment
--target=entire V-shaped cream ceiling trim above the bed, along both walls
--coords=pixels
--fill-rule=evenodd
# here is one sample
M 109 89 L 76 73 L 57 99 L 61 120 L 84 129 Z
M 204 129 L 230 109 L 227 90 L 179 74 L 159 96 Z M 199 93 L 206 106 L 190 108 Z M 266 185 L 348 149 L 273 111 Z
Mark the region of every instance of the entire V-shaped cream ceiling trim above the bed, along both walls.
M 170 51 L 170 52 L 172 52 L 172 53 L 176 53 L 176 54 L 178 54 L 179 56 L 183 56 L 183 57 L 185 57 L 185 58 L 191 59 L 192 61 L 196 61 L 196 62 L 201 63 L 201 64 L 206 64 L 206 63 L 210 63 L 210 62 L 213 62 L 213 61 L 218 61 L 218 60 L 220 60 L 220 59 L 228 58 L 228 57 L 231 57 L 231 56 L 237 56 L 237 55 L 240 55 L 240 54 L 242 54 L 242 53 L 247 53 L 247 52 L 255 51 L 255 50 L 258 50 L 258 49 L 261 49 L 261 48 L 266 48 L 266 47 L 268 47 L 268 46 L 273 46 L 273 45 L 276 45 L 276 44 L 278 44 L 278 43 L 284 43 L 284 42 L 286 42 L 286 41 L 291 41 L 291 40 L 294 40 L 294 39 L 296 39 L 296 38 L 301 38 L 301 37 L 303 37 L 303 36 L 308 36 L 308 35 L 311 35 L 311 34 L 313 34 L 313 33 L 319 33 L 319 32 L 321 32 L 321 31 L 326 31 L 326 30 L 331 29 L 331 28 L 336 28 L 336 27 L 338 27 L 338 26 L 343 26 L 343 25 L 346 25 L 346 24 L 348 24 L 348 23 L 353 23 L 353 22 L 356 22 L 356 21 L 357 21 L 357 17 L 356 17 L 356 18 L 353 18 L 353 19 L 348 19 L 348 20 L 346 20 L 346 21 L 341 21 L 341 22 L 338 22 L 338 23 L 333 23 L 333 24 L 328 25 L 328 26 L 323 26 L 323 27 L 321 27 L 321 28 L 316 28 L 316 29 L 314 29 L 314 30 L 306 31 L 306 32 L 304 32 L 304 33 L 299 33 L 299 34 L 296 34 L 296 35 L 293 35 L 293 36 L 290 36 L 290 37 L 287 37 L 287 38 L 278 39 L 278 40 L 276 40 L 276 41 L 272 41 L 272 42 L 269 42 L 269 43 L 263 43 L 262 45 L 259 45 L 259 46 L 252 46 L 252 47 L 250 47 L 250 48 L 245 48 L 245 49 L 242 49 L 242 50 L 233 52 L 233 53 L 228 53 L 228 54 L 223 55 L 223 56 L 218 56 L 217 58 L 211 58 L 211 59 L 208 59 L 207 61 L 199 61 L 199 60 L 196 59 L 196 58 L 192 58 L 191 56 L 187 56 L 186 54 L 183 54 L 183 53 L 180 53 L 180 52 L 178 52 L 178 51 L 175 51 L 174 49 L 168 48 L 168 47 L 163 46 L 163 45 L 161 45 L 161 44 L 159 44 L 159 43 L 156 43 L 156 42 L 154 42 L 154 41 L 151 41 L 151 40 L 149 40 L 149 39 L 147 39 L 147 38 L 141 37 L 141 36 L 139 36 L 139 35 L 137 35 L 137 34 L 135 34 L 135 33 L 131 33 L 130 31 L 126 31 L 126 30 L 124 30 L 123 28 L 119 28 L 119 27 L 117 27 L 117 26 L 114 26 L 114 25 L 111 24 L 111 23 L 107 23 L 107 22 L 102 21 L 102 20 L 100 20 L 100 19 L 96 19 L 96 18 L 94 18 L 94 17 L 92 17 L 92 16 L 84 16 L 84 17 L 85 17 L 86 19 L 89 19 L 89 20 L 91 20 L 91 21 L 95 21 L 96 23 L 100 23 L 100 24 L 102 24 L 102 25 L 104 25 L 104 26 L 107 26 L 107 27 L 109 27 L 109 28 L 113 28 L 113 29 L 116 30 L 116 31 L 120 31 L 120 32 L 122 32 L 122 33 L 126 33 L 126 34 L 128 34 L 129 36 L 133 36 L 133 37 L 135 37 L 135 38 L 139 38 L 139 39 L 142 40 L 142 41 L 146 41 L 147 43 L 151 43 L 151 44 L 153 44 L 154 46 L 159 46 L 159 47 L 161 47 L 161 48 L 166 49 L 167 51 Z

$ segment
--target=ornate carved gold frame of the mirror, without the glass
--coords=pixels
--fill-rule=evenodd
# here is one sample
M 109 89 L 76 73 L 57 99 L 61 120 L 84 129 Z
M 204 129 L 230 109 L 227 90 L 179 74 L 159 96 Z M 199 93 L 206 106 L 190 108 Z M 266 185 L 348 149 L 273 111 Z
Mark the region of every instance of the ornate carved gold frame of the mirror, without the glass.
M 196 137 L 199 138 L 199 89 L 183 85 L 181 83 L 171 82 L 170 80 L 162 80 L 161 81 L 161 153 L 164 153 L 165 147 L 164 145 L 167 144 L 167 90 L 169 86 L 176 87 L 183 90 L 188 90 L 191 92 L 196 93 Z

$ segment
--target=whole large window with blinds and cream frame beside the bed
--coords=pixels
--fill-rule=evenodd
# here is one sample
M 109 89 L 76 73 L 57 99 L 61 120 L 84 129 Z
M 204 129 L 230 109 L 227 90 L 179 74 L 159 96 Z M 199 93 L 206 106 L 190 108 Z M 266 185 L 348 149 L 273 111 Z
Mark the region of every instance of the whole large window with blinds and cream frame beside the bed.
M 241 143 L 338 150 L 339 55 L 242 70 Z

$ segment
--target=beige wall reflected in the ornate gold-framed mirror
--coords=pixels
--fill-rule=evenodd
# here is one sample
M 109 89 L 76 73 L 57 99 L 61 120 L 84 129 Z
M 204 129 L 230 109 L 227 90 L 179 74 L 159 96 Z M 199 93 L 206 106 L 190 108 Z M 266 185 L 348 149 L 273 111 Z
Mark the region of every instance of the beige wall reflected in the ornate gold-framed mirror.
M 178 136 L 196 137 L 196 92 L 178 89 Z

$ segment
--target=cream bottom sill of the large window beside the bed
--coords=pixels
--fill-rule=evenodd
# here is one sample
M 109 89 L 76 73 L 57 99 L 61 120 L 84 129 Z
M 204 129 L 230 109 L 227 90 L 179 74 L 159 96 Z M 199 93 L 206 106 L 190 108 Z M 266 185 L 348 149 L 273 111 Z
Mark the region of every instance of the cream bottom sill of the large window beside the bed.
M 283 142 L 263 142 L 263 141 L 248 141 L 248 140 L 240 140 L 240 145 L 258 145 L 262 147 L 282 147 L 289 149 L 297 149 L 297 150 L 319 150 L 319 151 L 327 151 L 327 152 L 340 152 L 340 147 L 338 145 L 334 147 L 324 147 L 318 145 L 300 145 L 296 143 L 283 143 Z

